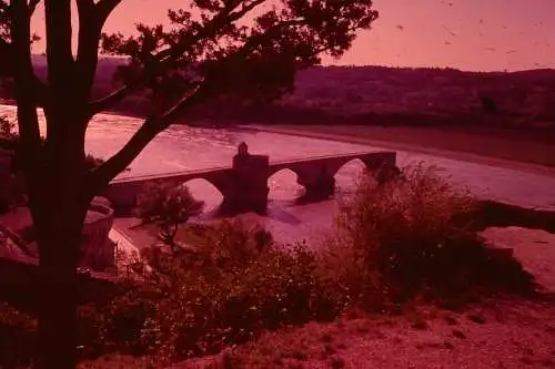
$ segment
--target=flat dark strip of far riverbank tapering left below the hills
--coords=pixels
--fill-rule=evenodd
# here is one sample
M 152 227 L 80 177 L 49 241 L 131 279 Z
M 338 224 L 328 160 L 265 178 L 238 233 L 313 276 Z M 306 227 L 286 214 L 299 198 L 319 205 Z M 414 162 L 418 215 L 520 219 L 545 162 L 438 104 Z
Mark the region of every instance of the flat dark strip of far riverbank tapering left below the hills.
M 393 150 L 435 154 L 471 162 L 555 167 L 555 137 L 536 131 L 495 127 L 411 127 L 372 125 L 254 126 L 266 132 L 346 141 Z M 529 166 L 529 165 L 528 165 Z M 553 171 L 551 171 L 553 173 Z

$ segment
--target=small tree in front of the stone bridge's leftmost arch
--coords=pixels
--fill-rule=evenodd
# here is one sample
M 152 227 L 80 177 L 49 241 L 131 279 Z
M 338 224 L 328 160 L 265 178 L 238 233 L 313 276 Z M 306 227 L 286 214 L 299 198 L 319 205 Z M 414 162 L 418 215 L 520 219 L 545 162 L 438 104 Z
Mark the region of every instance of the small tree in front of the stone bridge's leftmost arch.
M 194 199 L 186 186 L 157 184 L 139 195 L 135 213 L 143 224 L 159 226 L 161 240 L 175 252 L 179 226 L 201 214 L 203 207 L 204 203 Z

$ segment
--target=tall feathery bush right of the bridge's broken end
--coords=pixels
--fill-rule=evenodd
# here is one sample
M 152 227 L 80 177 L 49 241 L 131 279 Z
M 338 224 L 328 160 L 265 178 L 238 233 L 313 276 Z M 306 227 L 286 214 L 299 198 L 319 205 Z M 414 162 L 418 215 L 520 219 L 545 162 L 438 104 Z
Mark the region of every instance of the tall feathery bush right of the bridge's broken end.
M 379 187 L 365 175 L 343 202 L 327 255 L 343 258 L 333 268 L 345 288 L 393 301 L 533 289 L 519 263 L 494 257 L 467 223 L 475 205 L 467 192 L 434 168 L 404 172 Z

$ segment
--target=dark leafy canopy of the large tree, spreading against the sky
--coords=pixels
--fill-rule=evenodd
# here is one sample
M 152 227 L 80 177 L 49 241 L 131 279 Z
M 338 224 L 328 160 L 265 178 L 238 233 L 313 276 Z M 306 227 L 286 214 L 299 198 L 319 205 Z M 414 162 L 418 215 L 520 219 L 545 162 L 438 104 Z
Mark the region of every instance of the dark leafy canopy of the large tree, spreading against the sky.
M 138 24 L 135 37 L 103 35 L 104 52 L 131 59 L 121 71 L 127 83 L 142 79 L 138 85 L 164 100 L 167 90 L 200 84 L 211 96 L 279 98 L 299 69 L 324 52 L 342 55 L 377 18 L 370 0 L 194 0 L 191 8 L 170 10 L 170 25 Z

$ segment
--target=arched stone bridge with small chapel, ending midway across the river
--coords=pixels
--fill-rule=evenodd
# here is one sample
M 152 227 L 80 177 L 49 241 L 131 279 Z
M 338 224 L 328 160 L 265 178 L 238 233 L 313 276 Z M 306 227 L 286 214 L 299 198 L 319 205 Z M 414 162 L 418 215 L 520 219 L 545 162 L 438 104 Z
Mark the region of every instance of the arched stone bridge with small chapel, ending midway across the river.
M 233 165 L 228 167 L 117 178 L 109 185 L 104 196 L 110 199 L 117 214 L 129 214 L 145 185 L 163 183 L 179 186 L 191 180 L 204 180 L 222 194 L 222 208 L 235 213 L 263 213 L 268 205 L 268 181 L 283 170 L 296 174 L 297 183 L 306 189 L 306 197 L 319 198 L 333 195 L 334 175 L 352 161 L 362 162 L 379 182 L 386 181 L 396 171 L 395 152 L 363 152 L 271 163 L 266 155 L 249 154 L 246 145 L 243 150 L 241 152 L 240 146 L 240 152 L 233 157 Z

